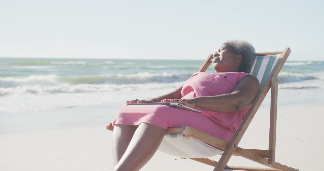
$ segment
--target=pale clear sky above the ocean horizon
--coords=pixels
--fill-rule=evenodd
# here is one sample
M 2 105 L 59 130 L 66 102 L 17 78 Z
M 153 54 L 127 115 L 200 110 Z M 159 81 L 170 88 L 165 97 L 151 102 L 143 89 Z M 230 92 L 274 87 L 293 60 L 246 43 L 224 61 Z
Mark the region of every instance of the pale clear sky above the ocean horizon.
M 2 0 L 0 57 L 205 59 L 227 40 L 323 61 L 324 1 Z

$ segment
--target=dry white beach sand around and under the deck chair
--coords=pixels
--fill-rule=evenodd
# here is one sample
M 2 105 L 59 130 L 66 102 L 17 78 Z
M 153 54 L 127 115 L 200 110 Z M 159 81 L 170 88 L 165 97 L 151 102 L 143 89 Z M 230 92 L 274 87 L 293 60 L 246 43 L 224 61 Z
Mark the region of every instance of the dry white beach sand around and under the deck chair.
M 300 170 L 324 170 L 321 165 L 323 157 L 320 156 L 324 151 L 324 126 L 321 123 L 324 119 L 323 110 L 324 105 L 278 107 L 276 162 Z M 78 115 L 69 117 L 71 111 Z M 15 127 L 9 129 L 8 124 L 0 127 L 7 129 L 0 133 L 0 170 L 112 169 L 112 132 L 106 130 L 106 125 L 101 122 L 112 121 L 112 115 L 108 116 L 106 113 L 115 111 L 115 108 L 76 108 L 33 112 L 34 116 L 31 117 L 34 118 L 30 120 L 39 120 L 37 128 L 41 131 L 29 128 L 35 127 L 36 122 L 22 122 L 18 117 L 12 117 L 22 115 L 1 115 L 2 120 L 6 119 L 6 123 Z M 104 113 L 99 115 L 98 112 Z M 60 115 L 61 118 L 58 119 L 55 113 L 65 115 Z M 41 114 L 47 117 L 36 118 Z M 105 115 L 107 117 L 102 117 Z M 78 121 L 75 122 L 73 117 Z M 238 146 L 266 150 L 269 117 L 269 109 L 260 108 Z M 52 123 L 53 120 L 56 125 Z M 87 120 L 95 126 L 80 124 Z M 46 125 L 52 126 L 48 128 Z M 262 166 L 238 156 L 232 156 L 228 164 Z M 213 167 L 157 152 L 142 170 L 213 170 Z

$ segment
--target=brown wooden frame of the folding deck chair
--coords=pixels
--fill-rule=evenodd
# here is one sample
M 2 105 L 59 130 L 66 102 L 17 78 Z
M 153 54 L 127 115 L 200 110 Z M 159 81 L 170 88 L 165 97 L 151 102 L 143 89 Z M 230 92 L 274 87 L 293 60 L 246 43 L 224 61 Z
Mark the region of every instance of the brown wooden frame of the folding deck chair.
M 270 76 L 265 81 L 263 87 L 251 105 L 248 113 L 242 120 L 240 126 L 237 128 L 232 140 L 227 143 L 221 139 L 213 137 L 204 132 L 193 129 L 189 126 L 182 126 L 182 128 L 168 128 L 166 133 L 181 133 L 186 136 L 203 141 L 210 145 L 216 146 L 224 150 L 221 154 L 222 157 L 218 162 L 210 160 L 208 158 L 189 158 L 207 165 L 215 166 L 213 171 L 223 171 L 224 169 L 234 169 L 234 170 L 247 170 L 247 171 L 297 171 L 298 169 L 282 165 L 275 162 L 275 146 L 276 146 L 276 121 L 277 121 L 277 99 L 278 99 L 278 74 L 283 67 L 286 59 L 290 54 L 290 48 L 285 48 L 284 51 L 275 52 L 262 52 L 257 53 L 257 56 L 265 55 L 275 55 L 281 54 L 276 65 L 274 66 Z M 201 65 L 198 71 L 205 72 L 212 62 L 212 55 L 210 54 L 204 63 Z M 237 146 L 243 137 L 245 131 L 247 130 L 250 122 L 252 121 L 255 113 L 259 109 L 264 97 L 267 95 L 271 87 L 271 106 L 270 106 L 270 132 L 269 132 L 269 149 L 259 150 L 259 149 L 243 149 Z M 113 127 L 107 124 L 107 129 L 113 131 Z M 252 160 L 254 162 L 260 163 L 262 165 L 268 166 L 270 168 L 260 168 L 260 167 L 245 167 L 245 166 L 231 166 L 227 165 L 228 160 L 232 155 L 239 155 L 246 159 Z M 183 158 L 184 159 L 184 158 Z

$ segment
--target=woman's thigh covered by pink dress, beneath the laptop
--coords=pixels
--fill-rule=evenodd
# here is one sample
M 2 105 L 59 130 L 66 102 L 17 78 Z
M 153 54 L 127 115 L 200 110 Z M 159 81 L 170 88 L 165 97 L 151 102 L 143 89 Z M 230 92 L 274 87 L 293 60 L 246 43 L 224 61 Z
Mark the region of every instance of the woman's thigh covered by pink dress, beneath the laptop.
M 117 112 L 115 121 L 129 125 L 151 123 L 165 129 L 190 126 L 212 136 L 219 135 L 222 128 L 207 114 L 165 105 L 125 106 Z

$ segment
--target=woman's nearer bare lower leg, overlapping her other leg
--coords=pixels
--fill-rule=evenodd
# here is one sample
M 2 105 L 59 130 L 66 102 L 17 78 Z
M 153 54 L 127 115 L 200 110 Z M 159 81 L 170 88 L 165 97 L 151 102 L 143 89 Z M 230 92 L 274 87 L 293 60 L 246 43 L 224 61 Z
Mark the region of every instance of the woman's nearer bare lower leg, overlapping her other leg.
M 165 132 L 164 128 L 141 123 L 114 171 L 140 170 L 156 153 Z

